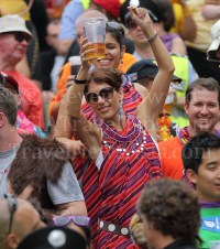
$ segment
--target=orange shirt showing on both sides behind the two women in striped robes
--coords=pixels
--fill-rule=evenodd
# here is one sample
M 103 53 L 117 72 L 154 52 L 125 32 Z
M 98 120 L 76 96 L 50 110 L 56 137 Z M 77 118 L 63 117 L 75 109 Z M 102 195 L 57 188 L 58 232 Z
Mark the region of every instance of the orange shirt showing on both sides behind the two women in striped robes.
M 123 67 L 121 67 L 121 64 L 119 64 L 118 69 L 121 69 L 123 73 L 127 73 L 129 67 L 138 62 L 138 59 L 132 55 L 124 53 L 123 55 Z M 51 119 L 51 113 L 53 110 L 53 107 L 62 100 L 62 96 L 66 93 L 66 80 L 70 76 L 70 63 L 66 63 L 62 68 L 61 68 L 61 77 L 57 84 L 57 94 L 54 96 L 54 98 L 51 101 L 51 105 L 48 107 L 48 118 Z

